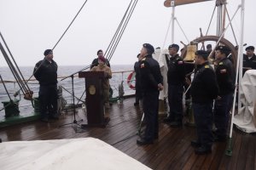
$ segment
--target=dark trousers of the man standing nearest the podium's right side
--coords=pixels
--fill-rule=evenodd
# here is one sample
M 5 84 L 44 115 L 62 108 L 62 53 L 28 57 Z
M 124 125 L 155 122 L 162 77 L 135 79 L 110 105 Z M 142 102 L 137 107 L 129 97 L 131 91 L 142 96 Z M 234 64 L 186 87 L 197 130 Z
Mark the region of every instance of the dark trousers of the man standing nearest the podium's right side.
M 143 93 L 143 111 L 146 121 L 146 131 L 144 139 L 154 140 L 158 136 L 158 107 L 159 91 Z

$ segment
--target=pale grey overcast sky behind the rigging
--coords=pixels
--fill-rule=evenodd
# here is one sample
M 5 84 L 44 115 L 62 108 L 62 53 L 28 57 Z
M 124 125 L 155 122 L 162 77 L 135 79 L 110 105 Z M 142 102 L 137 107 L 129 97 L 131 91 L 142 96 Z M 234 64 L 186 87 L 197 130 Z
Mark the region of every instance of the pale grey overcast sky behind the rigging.
M 112 65 L 131 65 L 144 42 L 154 48 L 162 48 L 171 19 L 172 8 L 164 6 L 165 0 L 139 0 L 131 16 L 117 50 L 111 59 Z M 241 0 L 227 0 L 230 17 L 241 4 Z M 54 50 L 58 65 L 89 65 L 96 58 L 98 49 L 106 50 L 125 9 L 131 0 L 88 0 L 73 26 Z M 62 33 L 78 13 L 84 0 L 0 0 L 0 31 L 18 65 L 35 65 L 44 58 L 44 50 L 53 48 Z M 192 41 L 207 31 L 215 1 L 178 6 L 175 15 L 183 31 Z M 245 1 L 244 42 L 256 46 L 255 0 Z M 214 15 L 209 35 L 216 34 Z M 241 12 L 233 22 L 236 38 L 240 35 Z M 228 23 L 228 20 L 226 20 Z M 234 42 L 229 29 L 225 37 Z M 165 48 L 171 43 L 169 31 Z M 174 41 L 187 42 L 182 31 L 175 25 Z M 2 41 L 1 41 L 2 42 Z M 235 44 L 236 45 L 236 44 Z M 6 66 L 0 54 L 0 66 Z

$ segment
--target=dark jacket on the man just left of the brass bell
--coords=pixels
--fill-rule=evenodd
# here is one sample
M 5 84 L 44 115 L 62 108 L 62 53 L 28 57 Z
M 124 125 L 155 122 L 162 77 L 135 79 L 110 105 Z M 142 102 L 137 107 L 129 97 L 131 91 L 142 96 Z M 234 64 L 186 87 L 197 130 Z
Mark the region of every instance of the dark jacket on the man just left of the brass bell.
M 167 72 L 168 84 L 181 85 L 185 80 L 185 68 L 183 58 L 176 54 L 170 58 Z

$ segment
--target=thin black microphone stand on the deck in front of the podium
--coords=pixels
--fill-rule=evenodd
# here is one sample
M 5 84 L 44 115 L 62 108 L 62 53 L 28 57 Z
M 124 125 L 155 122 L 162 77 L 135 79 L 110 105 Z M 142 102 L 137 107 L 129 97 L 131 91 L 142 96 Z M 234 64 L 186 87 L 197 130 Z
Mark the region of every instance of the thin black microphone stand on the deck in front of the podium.
M 80 71 L 84 71 L 84 70 L 86 70 L 86 69 L 88 69 L 88 68 L 90 68 L 90 65 L 89 65 L 89 66 L 86 66 L 85 68 L 83 68 L 83 69 L 80 70 Z M 74 88 L 73 88 L 73 76 L 74 76 L 75 74 L 79 73 L 80 71 L 77 71 L 77 72 L 75 72 L 75 73 L 73 73 L 72 75 L 69 76 L 69 77 L 71 77 L 71 81 L 72 81 L 73 122 L 62 124 L 62 125 L 60 125 L 59 127 L 63 127 L 63 126 L 70 125 L 70 124 L 76 124 L 76 125 L 78 125 L 79 127 L 81 127 L 81 125 L 79 125 L 79 122 L 84 121 L 83 119 L 81 119 L 81 120 L 79 120 L 79 121 L 76 120 L 76 110 L 75 110 L 75 102 L 74 102 L 75 96 L 74 96 Z M 65 79 L 67 79 L 67 77 L 62 78 L 61 81 L 65 80 Z

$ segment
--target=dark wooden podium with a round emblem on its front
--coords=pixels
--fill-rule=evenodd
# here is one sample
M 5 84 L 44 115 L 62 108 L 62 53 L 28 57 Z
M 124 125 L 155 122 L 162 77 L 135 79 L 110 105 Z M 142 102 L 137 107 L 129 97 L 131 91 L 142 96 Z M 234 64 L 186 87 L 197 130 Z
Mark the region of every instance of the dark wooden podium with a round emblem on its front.
M 85 79 L 87 123 L 82 127 L 105 127 L 102 79 L 104 71 L 80 71 L 79 78 Z

